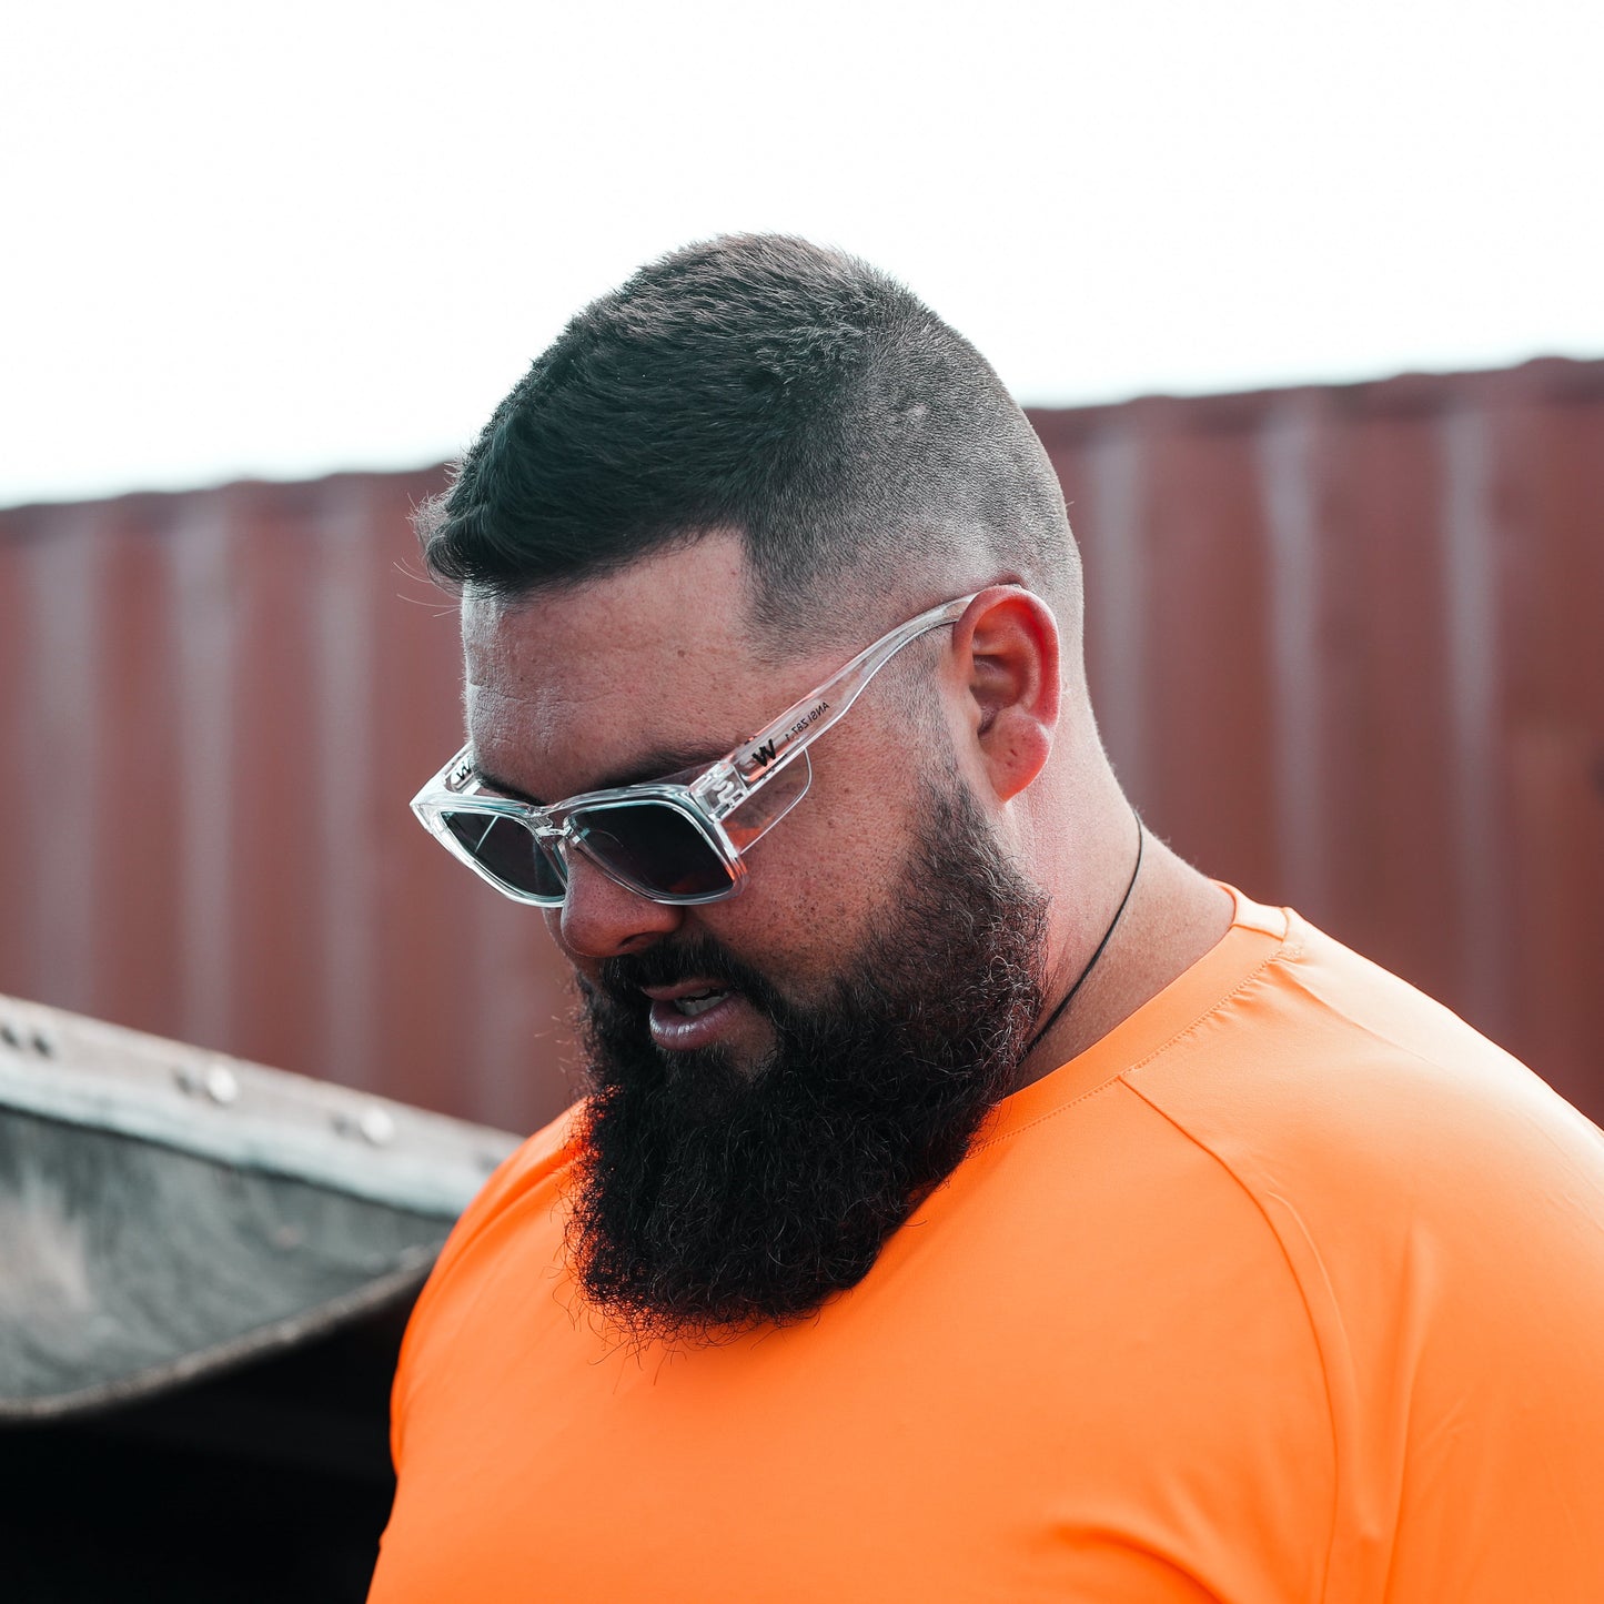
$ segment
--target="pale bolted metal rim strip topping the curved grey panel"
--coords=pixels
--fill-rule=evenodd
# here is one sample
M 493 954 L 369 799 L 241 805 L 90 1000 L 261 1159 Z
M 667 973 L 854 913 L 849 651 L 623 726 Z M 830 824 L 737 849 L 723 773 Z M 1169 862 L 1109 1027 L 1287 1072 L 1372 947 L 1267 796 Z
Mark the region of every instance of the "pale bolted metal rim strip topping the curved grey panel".
M 0 996 L 0 1107 L 456 1219 L 520 1137 Z

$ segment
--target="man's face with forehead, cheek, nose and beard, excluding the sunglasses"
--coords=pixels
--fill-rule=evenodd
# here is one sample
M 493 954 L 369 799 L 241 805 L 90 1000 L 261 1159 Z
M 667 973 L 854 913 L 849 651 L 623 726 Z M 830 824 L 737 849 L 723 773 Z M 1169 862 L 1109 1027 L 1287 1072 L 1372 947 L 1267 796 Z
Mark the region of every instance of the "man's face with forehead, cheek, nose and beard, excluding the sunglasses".
M 555 802 L 722 755 L 849 654 L 765 659 L 747 600 L 727 536 L 510 608 L 468 598 L 481 770 Z M 1009 1089 L 1043 898 L 932 744 L 873 685 L 730 901 L 664 908 L 571 860 L 547 917 L 593 1083 L 573 1250 L 635 1333 L 794 1318 L 853 1285 Z

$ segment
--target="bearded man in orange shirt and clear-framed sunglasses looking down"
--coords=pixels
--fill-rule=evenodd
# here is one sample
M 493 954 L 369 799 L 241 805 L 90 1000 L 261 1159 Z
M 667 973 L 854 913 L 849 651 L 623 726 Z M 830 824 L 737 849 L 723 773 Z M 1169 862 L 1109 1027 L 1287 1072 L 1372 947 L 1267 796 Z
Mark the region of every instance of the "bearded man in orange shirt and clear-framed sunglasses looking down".
M 1147 836 L 980 356 L 642 269 L 423 520 L 592 1094 L 460 1221 L 372 1598 L 1596 1601 L 1604 1139 Z

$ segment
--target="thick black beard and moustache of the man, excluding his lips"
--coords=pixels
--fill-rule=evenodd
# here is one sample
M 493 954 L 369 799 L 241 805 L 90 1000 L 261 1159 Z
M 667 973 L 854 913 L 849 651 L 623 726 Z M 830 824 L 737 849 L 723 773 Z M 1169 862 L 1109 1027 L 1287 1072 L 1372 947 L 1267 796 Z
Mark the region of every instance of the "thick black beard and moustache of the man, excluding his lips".
M 1046 906 L 954 784 L 823 1003 L 788 1003 L 709 938 L 608 959 L 584 1007 L 593 1096 L 568 1232 L 606 1323 L 715 1343 L 855 1286 L 1012 1089 L 1041 1014 Z M 693 975 L 773 1022 L 754 1073 L 651 1044 L 640 986 Z

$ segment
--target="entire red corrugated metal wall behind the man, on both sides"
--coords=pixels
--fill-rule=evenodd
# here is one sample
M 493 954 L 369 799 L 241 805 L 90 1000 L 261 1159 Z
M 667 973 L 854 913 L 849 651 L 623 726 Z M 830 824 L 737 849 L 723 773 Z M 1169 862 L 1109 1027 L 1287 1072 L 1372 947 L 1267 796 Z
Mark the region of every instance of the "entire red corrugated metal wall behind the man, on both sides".
M 1604 363 L 1035 420 L 1148 823 L 1604 1116 Z M 460 738 L 407 529 L 439 481 L 0 513 L 0 991 L 561 1105 L 541 921 L 406 810 Z

